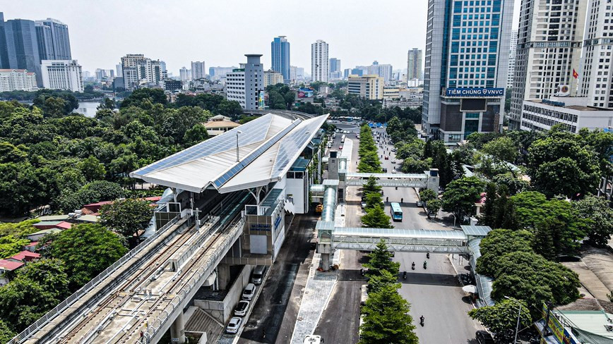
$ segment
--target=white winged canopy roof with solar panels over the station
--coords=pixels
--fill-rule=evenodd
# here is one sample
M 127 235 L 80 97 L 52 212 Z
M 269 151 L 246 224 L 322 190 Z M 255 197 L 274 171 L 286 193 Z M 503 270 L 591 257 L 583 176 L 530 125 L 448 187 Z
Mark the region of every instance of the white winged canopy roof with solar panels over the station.
M 292 121 L 268 113 L 130 176 L 192 192 L 213 187 L 225 193 L 266 185 L 287 173 L 326 118 Z

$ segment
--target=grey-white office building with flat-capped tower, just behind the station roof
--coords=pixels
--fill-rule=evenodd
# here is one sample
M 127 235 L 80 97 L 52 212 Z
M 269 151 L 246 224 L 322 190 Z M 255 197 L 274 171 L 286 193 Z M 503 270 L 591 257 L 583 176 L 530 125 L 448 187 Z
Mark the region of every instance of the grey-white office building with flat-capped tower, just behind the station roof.
M 264 109 L 264 68 L 260 54 L 246 54 L 247 63 L 225 75 L 227 100 L 246 110 Z

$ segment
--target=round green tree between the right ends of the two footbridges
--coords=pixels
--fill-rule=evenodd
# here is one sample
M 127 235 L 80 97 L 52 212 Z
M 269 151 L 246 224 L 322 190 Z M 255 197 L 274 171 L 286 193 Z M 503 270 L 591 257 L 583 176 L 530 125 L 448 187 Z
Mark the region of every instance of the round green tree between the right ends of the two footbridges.
M 462 223 L 464 216 L 472 214 L 481 197 L 484 183 L 477 177 L 464 177 L 447 185 L 443 194 L 443 210 L 453 212 Z

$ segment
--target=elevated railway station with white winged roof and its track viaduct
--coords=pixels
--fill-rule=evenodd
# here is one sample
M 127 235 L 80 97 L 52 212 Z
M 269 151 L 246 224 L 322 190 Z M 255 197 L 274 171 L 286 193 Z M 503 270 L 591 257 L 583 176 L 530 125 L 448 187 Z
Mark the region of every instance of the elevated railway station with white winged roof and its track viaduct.
M 309 185 L 321 180 L 328 116 L 261 115 L 130 173 L 172 189 L 157 230 L 10 343 L 157 343 L 168 330 L 185 343 L 184 309 L 198 291 L 273 264 L 285 214 L 309 211 Z

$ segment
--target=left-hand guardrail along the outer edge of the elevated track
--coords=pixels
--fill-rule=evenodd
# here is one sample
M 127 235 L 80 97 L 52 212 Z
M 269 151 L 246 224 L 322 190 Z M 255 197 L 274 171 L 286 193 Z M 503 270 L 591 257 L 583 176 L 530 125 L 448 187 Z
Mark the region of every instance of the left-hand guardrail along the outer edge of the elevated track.
M 119 266 L 123 265 L 129 259 L 134 257 L 134 255 L 140 252 L 143 247 L 149 245 L 151 242 L 153 242 L 153 240 L 157 239 L 162 233 L 167 231 L 168 228 L 172 227 L 174 223 L 177 223 L 177 221 L 179 221 L 179 216 L 175 216 L 172 220 L 162 226 L 162 228 L 156 231 L 145 241 L 141 242 L 140 244 L 138 244 L 138 246 L 134 247 L 132 250 L 124 254 L 124 257 L 119 258 L 117 262 L 114 262 L 111 266 L 107 267 L 107 269 L 92 278 L 88 283 L 85 283 L 83 287 L 79 288 L 79 290 L 67 297 L 64 301 L 60 302 L 59 305 L 47 312 L 47 314 L 44 314 L 40 319 L 35 321 L 34 324 L 31 324 L 30 326 L 28 326 L 28 328 L 25 328 L 25 330 L 21 331 L 21 333 L 19 333 L 13 339 L 9 340 L 7 344 L 22 343 L 23 340 L 29 338 L 32 333 L 35 333 L 40 328 L 42 328 L 42 326 L 48 324 L 49 321 L 57 317 L 59 314 L 61 314 L 61 312 L 64 312 L 66 308 L 70 307 L 74 302 L 76 302 L 76 300 L 79 300 L 81 297 L 83 297 L 83 295 L 87 294 L 98 283 L 100 283 L 100 281 L 107 278 L 110 274 L 116 271 Z

